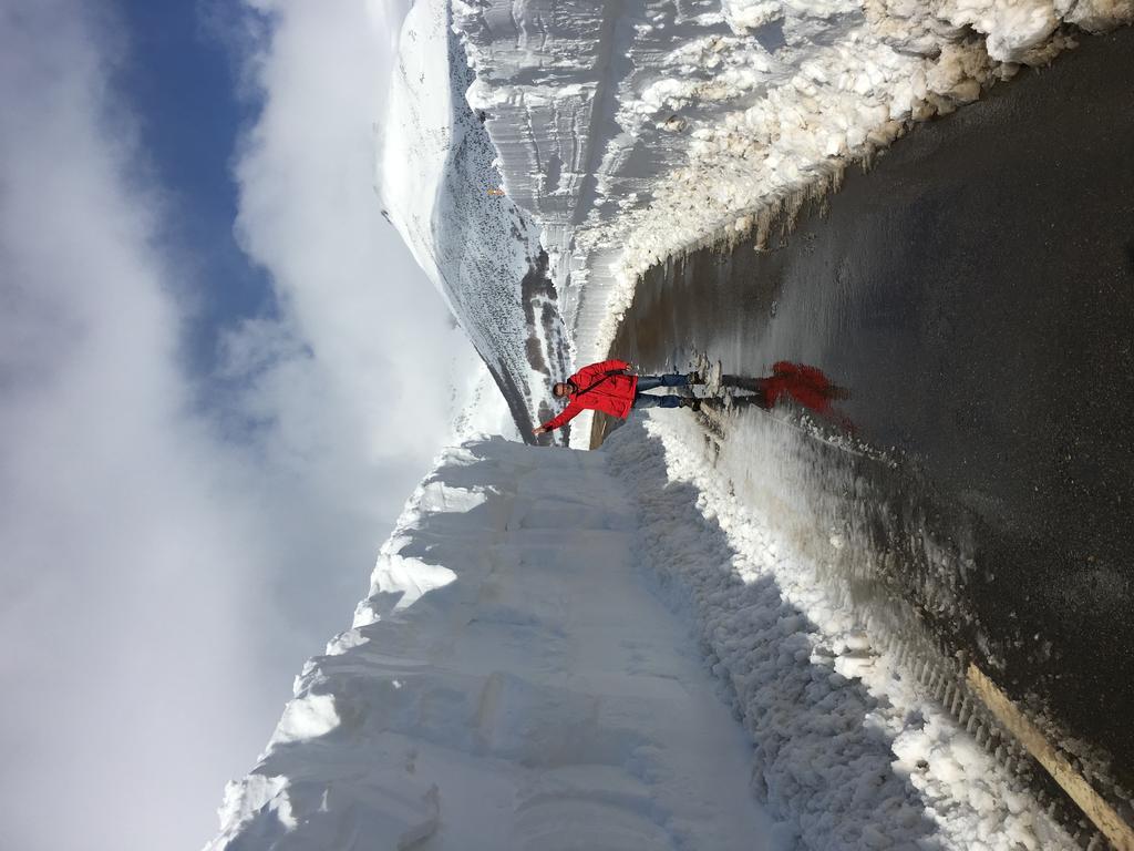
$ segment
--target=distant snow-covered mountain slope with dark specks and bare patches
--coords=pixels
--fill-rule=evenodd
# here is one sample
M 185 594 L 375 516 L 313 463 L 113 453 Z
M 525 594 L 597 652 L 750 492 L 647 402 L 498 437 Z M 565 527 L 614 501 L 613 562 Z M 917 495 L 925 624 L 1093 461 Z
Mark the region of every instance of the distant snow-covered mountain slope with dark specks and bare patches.
M 421 0 L 401 31 L 379 193 L 531 439 L 570 353 L 539 229 L 497 194 L 496 152 L 465 100 L 471 82 L 448 3 Z

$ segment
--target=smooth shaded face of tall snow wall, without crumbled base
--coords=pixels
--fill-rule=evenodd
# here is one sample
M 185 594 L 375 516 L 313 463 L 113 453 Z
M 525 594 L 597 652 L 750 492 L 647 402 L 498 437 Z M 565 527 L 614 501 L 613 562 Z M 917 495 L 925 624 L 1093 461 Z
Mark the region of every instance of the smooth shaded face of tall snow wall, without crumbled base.
M 788 849 L 602 453 L 447 450 L 210 851 Z

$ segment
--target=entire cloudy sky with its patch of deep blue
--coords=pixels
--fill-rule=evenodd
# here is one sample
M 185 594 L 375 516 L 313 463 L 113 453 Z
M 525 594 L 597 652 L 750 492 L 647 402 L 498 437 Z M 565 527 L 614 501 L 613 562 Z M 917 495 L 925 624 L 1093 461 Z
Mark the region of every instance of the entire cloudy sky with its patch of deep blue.
M 475 362 L 373 189 L 404 8 L 254 6 L 0 0 L 2 848 L 210 839 Z

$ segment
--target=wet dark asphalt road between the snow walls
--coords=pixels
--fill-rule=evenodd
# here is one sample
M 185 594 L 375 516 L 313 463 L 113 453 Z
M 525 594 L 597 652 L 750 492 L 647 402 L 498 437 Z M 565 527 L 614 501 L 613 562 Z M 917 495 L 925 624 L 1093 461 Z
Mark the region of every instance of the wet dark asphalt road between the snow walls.
M 946 644 L 1134 786 L 1134 31 L 915 128 L 824 207 L 653 270 L 612 354 L 848 386 L 900 464 L 855 470 L 885 516 L 847 514 L 975 563 Z

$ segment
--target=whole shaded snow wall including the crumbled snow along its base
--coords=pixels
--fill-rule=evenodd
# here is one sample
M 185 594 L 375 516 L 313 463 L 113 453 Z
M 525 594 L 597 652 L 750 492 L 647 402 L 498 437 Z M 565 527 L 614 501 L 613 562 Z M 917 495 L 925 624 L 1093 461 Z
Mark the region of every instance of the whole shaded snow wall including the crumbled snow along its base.
M 665 413 L 447 450 L 210 851 L 1068 848 Z

